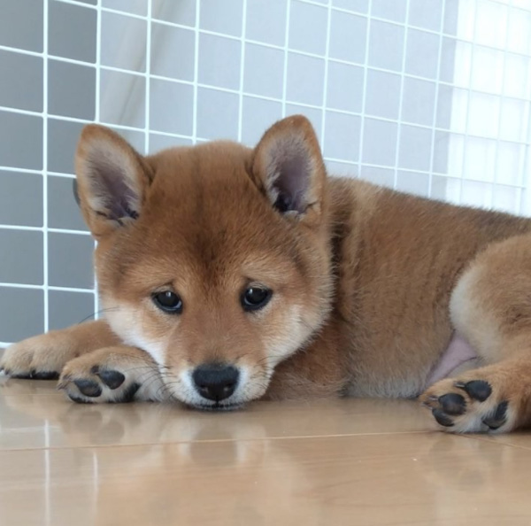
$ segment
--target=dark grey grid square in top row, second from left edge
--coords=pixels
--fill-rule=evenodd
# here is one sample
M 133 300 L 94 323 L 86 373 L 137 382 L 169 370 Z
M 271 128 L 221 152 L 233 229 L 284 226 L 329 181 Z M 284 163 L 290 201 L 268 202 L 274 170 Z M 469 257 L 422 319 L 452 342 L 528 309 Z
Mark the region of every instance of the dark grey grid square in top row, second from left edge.
M 48 12 L 50 55 L 96 62 L 96 10 L 50 2 Z

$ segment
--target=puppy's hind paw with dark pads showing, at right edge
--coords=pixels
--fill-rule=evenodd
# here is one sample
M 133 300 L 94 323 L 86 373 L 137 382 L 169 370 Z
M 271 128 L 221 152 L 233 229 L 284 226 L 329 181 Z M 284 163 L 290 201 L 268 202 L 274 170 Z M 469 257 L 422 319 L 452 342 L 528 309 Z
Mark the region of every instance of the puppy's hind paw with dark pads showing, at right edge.
M 514 371 L 516 372 L 516 371 Z M 457 433 L 507 432 L 525 421 L 529 387 L 502 364 L 432 385 L 420 401 L 444 430 Z

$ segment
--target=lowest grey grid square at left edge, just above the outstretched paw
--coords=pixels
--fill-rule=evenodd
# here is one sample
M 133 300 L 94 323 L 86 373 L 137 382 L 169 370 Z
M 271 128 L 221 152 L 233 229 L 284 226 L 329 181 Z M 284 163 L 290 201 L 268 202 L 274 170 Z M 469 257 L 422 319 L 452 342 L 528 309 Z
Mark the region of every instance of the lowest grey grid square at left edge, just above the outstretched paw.
M 0 340 L 19 342 L 44 332 L 44 291 L 0 288 Z

